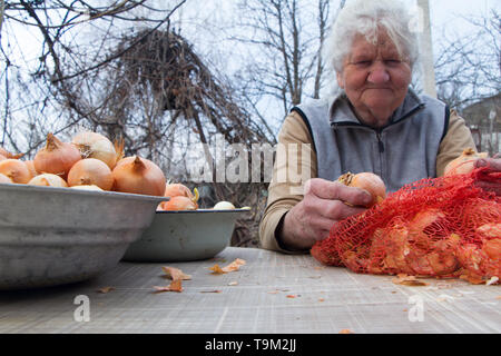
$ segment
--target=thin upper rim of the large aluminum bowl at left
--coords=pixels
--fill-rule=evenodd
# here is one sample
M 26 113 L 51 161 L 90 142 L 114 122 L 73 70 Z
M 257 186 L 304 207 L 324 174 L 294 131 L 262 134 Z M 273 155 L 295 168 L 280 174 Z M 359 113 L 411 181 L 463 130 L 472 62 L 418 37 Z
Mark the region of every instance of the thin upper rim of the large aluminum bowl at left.
M 121 191 L 110 191 L 110 190 L 84 190 L 84 189 L 75 189 L 70 187 L 41 187 L 41 186 L 32 186 L 24 184 L 14 184 L 14 182 L 2 182 L 0 184 L 1 190 L 24 190 L 24 191 L 33 191 L 33 192 L 65 192 L 72 194 L 76 196 L 95 196 L 95 197 L 114 197 L 121 199 L 135 199 L 135 200 L 147 200 L 147 201 L 168 201 L 169 197 L 159 197 L 159 196 L 149 196 L 141 194 L 132 194 L 132 192 L 121 192 Z

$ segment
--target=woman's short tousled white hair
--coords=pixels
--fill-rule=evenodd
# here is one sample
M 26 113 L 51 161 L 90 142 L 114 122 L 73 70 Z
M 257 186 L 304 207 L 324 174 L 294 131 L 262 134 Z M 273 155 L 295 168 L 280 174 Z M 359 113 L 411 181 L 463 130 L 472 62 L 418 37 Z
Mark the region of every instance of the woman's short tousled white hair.
M 384 28 L 400 56 L 409 58 L 411 68 L 419 59 L 418 33 L 412 28 L 411 10 L 396 0 L 348 0 L 340 11 L 326 40 L 326 58 L 335 71 L 352 50 L 356 34 L 376 43 L 379 28 Z

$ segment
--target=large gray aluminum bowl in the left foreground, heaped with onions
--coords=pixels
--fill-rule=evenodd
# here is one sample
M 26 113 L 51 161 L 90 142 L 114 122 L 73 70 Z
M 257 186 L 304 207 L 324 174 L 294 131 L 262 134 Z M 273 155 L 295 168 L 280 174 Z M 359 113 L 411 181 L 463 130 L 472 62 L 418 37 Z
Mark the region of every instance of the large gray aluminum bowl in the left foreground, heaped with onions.
M 163 200 L 0 184 L 0 290 L 85 280 L 116 266 Z

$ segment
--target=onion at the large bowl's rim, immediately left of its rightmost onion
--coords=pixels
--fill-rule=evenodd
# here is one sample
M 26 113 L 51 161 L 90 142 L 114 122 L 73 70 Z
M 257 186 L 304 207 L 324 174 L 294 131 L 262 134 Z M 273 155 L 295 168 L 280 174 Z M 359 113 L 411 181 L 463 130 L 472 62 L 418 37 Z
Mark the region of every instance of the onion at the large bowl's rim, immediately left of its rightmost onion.
M 68 172 L 68 185 L 72 186 L 98 186 L 102 190 L 111 190 L 114 175 L 111 169 L 97 158 L 85 158 L 71 167 Z

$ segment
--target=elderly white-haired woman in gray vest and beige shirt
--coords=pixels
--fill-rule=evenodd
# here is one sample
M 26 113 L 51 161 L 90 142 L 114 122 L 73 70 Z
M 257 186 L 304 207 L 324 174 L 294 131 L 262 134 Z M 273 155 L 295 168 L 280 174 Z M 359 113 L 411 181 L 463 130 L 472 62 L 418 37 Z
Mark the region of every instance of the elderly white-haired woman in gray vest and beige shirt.
M 443 175 L 449 161 L 475 147 L 463 119 L 409 88 L 419 57 L 410 23 L 397 1 L 353 0 L 340 12 L 327 46 L 341 93 L 293 108 L 278 136 L 285 147 L 301 148 L 293 161 L 315 178 L 304 186 L 282 181 L 294 151 L 277 160 L 259 227 L 264 248 L 307 251 L 336 221 L 363 211 L 372 197 L 336 182 L 342 174 L 375 172 L 395 191 Z M 488 164 L 501 170 L 500 159 L 479 161 Z

